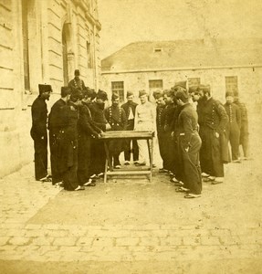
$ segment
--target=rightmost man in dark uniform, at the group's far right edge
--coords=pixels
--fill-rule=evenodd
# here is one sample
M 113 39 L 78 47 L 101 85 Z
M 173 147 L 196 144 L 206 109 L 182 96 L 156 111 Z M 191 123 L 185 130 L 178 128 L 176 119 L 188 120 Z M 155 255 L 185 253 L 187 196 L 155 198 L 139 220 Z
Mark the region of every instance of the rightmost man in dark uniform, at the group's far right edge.
M 240 145 L 242 145 L 244 160 L 248 159 L 248 117 L 246 105 L 240 102 L 238 97 L 234 98 L 234 103 L 239 107 L 241 112 L 241 127 L 240 127 Z

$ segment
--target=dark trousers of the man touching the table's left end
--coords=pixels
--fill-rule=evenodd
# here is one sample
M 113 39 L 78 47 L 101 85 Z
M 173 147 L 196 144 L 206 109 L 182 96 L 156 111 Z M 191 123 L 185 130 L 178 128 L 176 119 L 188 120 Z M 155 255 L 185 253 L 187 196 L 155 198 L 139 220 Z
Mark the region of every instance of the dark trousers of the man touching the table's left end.
M 100 174 L 105 172 L 106 152 L 104 143 L 98 139 L 91 141 L 91 172 L 90 174 Z

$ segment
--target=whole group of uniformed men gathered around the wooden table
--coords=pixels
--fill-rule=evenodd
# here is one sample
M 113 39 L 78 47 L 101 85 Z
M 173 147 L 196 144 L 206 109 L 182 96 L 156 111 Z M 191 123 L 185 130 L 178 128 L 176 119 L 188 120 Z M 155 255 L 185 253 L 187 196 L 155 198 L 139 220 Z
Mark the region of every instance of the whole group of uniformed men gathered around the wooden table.
M 209 86 L 190 89 L 177 82 L 171 90 L 153 93 L 157 107 L 145 90 L 139 91 L 140 104 L 127 92 L 127 102 L 120 105 L 113 93 L 110 107 L 105 108 L 107 93 L 85 87 L 79 70 L 68 87 L 61 88 L 61 99 L 47 116 L 46 100 L 52 91 L 39 85 L 39 96 L 32 105 L 31 136 L 35 145 L 35 175 L 42 182 L 63 184 L 66 190 L 83 190 L 96 185 L 105 170 L 106 153 L 100 137 L 106 131 L 150 131 L 158 138 L 162 157 L 160 172 L 170 174 L 177 192 L 185 198 L 201 196 L 202 181 L 219 184 L 224 179 L 224 163 L 239 163 L 239 143 L 247 157 L 248 125 L 245 105 L 234 94 L 226 93 L 222 105 L 211 96 Z M 48 121 L 48 122 L 47 122 Z M 47 129 L 52 178 L 47 174 Z M 111 141 L 110 161 L 114 168 L 124 164 L 141 166 L 149 163 L 144 140 Z M 203 178 L 204 177 L 204 178 Z

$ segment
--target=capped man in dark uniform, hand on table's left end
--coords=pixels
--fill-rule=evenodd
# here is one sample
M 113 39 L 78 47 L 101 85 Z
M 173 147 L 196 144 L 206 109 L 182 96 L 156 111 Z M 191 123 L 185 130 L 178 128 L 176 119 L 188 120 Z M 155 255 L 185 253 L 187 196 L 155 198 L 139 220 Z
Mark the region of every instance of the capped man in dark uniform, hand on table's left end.
M 99 90 L 97 98 L 93 103 L 89 103 L 89 110 L 95 124 L 102 132 L 110 130 L 110 124 L 106 120 L 104 114 L 105 101 L 108 100 L 108 95 L 105 91 Z M 106 152 L 104 143 L 99 139 L 92 139 L 91 141 L 91 178 L 95 176 L 102 176 L 105 170 Z

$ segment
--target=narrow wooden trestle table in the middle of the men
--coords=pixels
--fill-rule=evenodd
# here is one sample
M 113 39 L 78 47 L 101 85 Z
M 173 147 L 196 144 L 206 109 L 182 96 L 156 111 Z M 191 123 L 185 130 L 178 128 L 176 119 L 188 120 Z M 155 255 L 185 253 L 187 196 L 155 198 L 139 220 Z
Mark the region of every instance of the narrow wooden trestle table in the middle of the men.
M 153 142 L 150 145 L 150 140 L 152 140 L 154 132 L 137 132 L 137 131 L 114 131 L 114 132 L 104 132 L 101 134 L 101 139 L 104 141 L 105 151 L 106 151 L 106 164 L 105 164 L 105 174 L 104 183 L 107 182 L 108 175 L 123 175 L 123 174 L 150 174 L 150 182 L 152 182 L 152 152 L 153 152 Z M 112 140 L 146 140 L 150 167 L 146 169 L 140 169 L 139 167 L 135 169 L 113 169 L 110 152 L 109 152 L 109 142 Z M 108 170 L 108 166 L 110 169 Z

